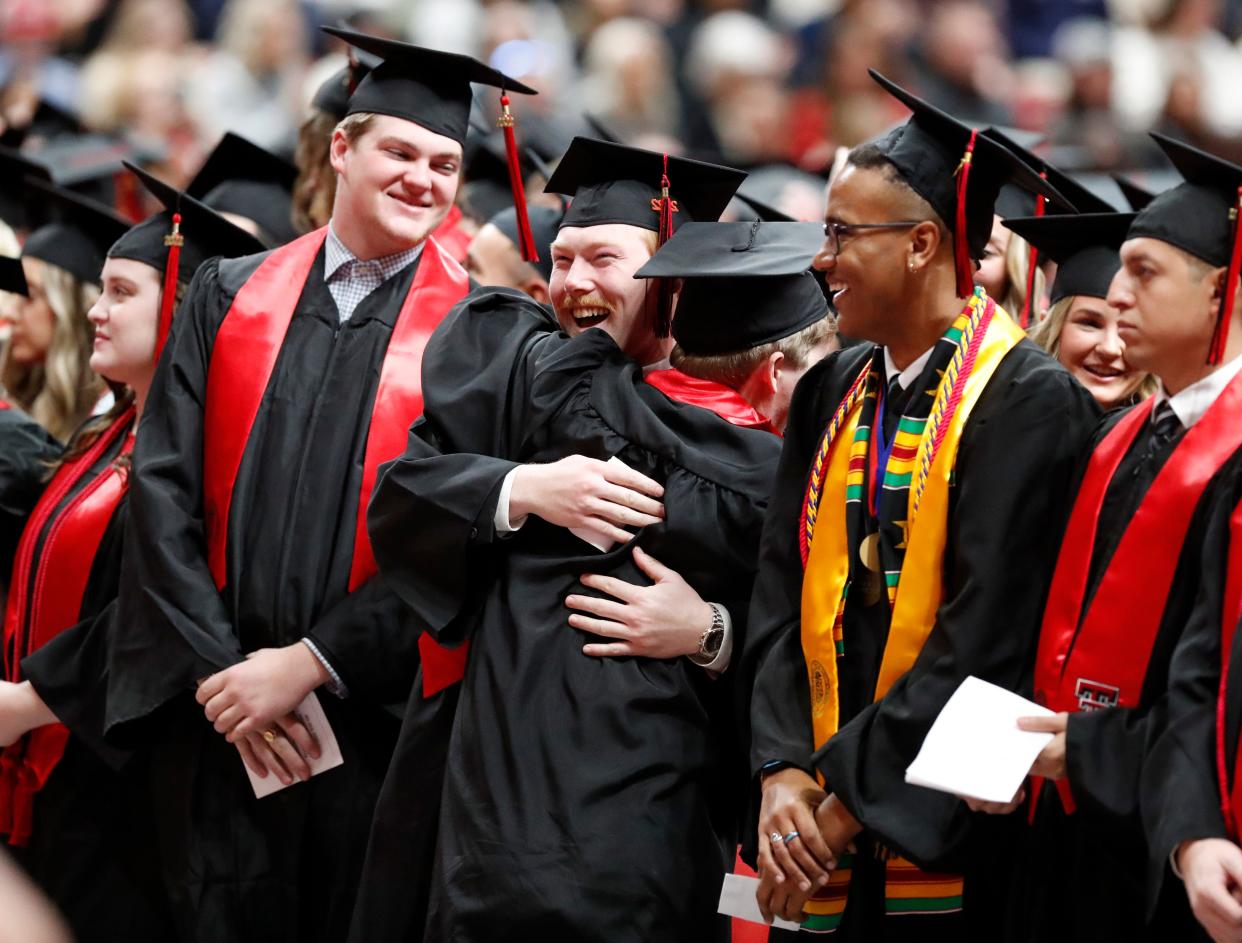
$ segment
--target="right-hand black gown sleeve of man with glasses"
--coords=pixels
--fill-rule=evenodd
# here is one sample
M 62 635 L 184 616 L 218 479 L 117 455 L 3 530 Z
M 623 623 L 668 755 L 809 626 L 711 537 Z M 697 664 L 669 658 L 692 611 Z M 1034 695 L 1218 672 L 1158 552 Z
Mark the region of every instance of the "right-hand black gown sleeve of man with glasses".
M 956 850 L 970 814 L 956 796 L 907 785 L 905 768 L 968 676 L 1027 683 L 1069 483 L 1098 420 L 1090 395 L 1025 343 L 990 388 L 958 455 L 935 625 L 910 671 L 816 757 L 854 818 L 924 866 Z

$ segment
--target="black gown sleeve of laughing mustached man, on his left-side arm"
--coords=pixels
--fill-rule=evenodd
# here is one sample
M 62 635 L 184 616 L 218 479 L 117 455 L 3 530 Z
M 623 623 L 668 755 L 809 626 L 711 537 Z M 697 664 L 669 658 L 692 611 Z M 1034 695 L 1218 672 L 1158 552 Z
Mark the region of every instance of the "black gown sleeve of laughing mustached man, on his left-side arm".
M 555 322 L 529 298 L 482 289 L 441 323 L 422 362 L 424 415 L 380 468 L 368 529 L 385 583 L 446 645 L 468 634 L 493 570 L 501 486 L 518 462 L 533 359 Z

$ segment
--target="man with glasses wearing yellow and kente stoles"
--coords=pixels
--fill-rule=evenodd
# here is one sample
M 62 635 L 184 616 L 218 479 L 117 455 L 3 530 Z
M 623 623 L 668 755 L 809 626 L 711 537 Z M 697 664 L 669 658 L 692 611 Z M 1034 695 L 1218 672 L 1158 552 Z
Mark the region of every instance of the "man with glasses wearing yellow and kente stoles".
M 966 676 L 1020 686 L 1097 410 L 971 285 L 1000 186 L 1058 194 L 872 75 L 914 114 L 851 153 L 816 260 L 871 343 L 794 396 L 751 600 L 776 640 L 751 709 L 759 903 L 850 941 L 987 938 L 999 846 L 904 773 Z

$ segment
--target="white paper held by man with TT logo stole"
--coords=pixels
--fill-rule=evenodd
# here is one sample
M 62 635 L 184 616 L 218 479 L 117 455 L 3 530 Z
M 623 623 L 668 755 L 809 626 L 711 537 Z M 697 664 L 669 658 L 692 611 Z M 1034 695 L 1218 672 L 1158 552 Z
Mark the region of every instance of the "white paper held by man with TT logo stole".
M 1051 716 L 1033 701 L 969 677 L 935 718 L 905 770 L 912 785 L 1007 803 L 1022 785 L 1051 733 L 1017 728 L 1018 717 Z

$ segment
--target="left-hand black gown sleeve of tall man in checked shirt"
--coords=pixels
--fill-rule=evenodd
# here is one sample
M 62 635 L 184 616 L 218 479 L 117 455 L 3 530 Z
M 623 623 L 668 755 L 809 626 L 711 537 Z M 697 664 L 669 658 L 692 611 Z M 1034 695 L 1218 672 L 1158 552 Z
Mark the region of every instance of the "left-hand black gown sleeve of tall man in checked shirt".
M 219 260 L 204 263 L 178 309 L 134 447 L 130 526 L 116 631 L 107 728 L 144 717 L 242 658 L 207 567 L 202 430 L 207 364 L 231 304 Z

